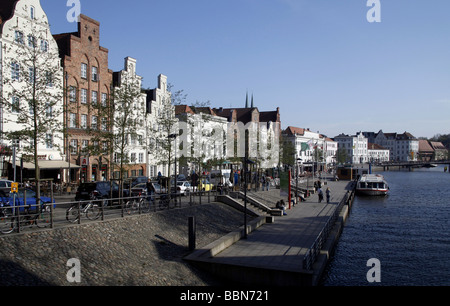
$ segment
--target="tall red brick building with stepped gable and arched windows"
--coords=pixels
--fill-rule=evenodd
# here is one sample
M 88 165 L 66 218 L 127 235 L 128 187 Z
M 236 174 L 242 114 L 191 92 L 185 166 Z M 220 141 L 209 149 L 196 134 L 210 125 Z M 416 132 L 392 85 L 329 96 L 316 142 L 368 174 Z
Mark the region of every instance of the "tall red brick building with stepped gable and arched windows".
M 108 49 L 100 46 L 100 23 L 80 15 L 78 31 L 54 35 L 65 76 L 66 156 L 80 169 L 71 169 L 71 182 L 107 180 L 111 177 L 108 113 L 113 72 Z

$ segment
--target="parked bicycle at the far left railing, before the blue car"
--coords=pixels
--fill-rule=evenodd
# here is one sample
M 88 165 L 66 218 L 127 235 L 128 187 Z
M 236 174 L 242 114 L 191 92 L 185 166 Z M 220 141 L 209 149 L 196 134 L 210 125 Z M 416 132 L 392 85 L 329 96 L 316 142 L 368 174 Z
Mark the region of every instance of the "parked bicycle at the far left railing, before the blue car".
M 0 202 L 0 232 L 10 234 L 19 228 L 37 226 L 47 228 L 51 223 L 51 204 L 11 206 Z

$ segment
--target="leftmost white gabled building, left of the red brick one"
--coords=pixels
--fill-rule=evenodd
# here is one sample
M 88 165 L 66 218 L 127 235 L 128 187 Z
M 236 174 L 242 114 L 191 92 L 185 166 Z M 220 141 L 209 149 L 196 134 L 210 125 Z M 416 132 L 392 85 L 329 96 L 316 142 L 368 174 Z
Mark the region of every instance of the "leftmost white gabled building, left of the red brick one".
M 11 147 L 4 133 L 33 130 L 33 114 L 43 119 L 45 135 L 38 139 L 41 178 L 61 178 L 64 161 L 63 68 L 47 15 L 39 0 L 2 0 L 0 4 L 1 145 Z M 33 64 L 34 60 L 34 64 Z M 32 103 L 30 88 L 36 88 Z M 30 102 L 31 101 L 31 102 Z M 17 140 L 16 140 L 17 143 Z M 34 160 L 25 148 L 33 148 L 31 138 L 18 140 L 17 157 L 27 157 L 25 168 L 34 170 Z M 33 155 L 34 156 L 34 155 Z M 3 175 L 3 173 L 2 173 Z

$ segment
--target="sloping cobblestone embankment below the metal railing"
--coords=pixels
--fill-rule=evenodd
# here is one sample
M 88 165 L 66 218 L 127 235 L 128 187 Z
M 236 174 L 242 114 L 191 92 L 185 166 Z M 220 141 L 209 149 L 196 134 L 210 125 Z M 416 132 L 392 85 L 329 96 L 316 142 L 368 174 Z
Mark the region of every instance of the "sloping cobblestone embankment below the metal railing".
M 243 224 L 242 213 L 213 203 L 0 237 L 0 285 L 73 286 L 66 277 L 71 258 L 81 263 L 78 285 L 220 285 L 182 260 L 189 216 L 197 220 L 198 247 Z

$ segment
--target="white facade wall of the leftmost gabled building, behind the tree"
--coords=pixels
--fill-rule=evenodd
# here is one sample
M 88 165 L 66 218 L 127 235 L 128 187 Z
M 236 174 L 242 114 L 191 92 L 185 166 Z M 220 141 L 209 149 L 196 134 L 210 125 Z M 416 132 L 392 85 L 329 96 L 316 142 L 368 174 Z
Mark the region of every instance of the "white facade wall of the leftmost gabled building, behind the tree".
M 53 141 L 46 143 L 45 139 L 41 139 L 38 143 L 38 155 L 42 160 L 62 161 L 63 160 L 63 147 L 64 137 L 62 133 L 63 127 L 63 68 L 61 67 L 61 59 L 59 58 L 59 50 L 56 41 L 50 32 L 50 27 L 47 19 L 47 15 L 40 5 L 39 0 L 21 0 L 16 4 L 14 16 L 5 22 L 3 25 L 3 33 L 1 36 L 1 74 L 2 74 L 2 98 L 8 99 L 13 92 L 13 88 L 16 91 L 25 90 L 25 82 L 29 80 L 22 79 L 11 82 L 12 79 L 12 62 L 19 65 L 21 74 L 24 71 L 30 69 L 29 62 L 26 63 L 25 58 L 21 58 L 20 51 L 24 48 L 30 48 L 32 39 L 36 44 L 36 50 L 38 52 L 45 52 L 51 56 L 45 56 L 45 58 L 51 58 L 51 62 L 47 60 L 37 63 L 37 67 L 53 67 L 57 69 L 58 73 L 52 76 L 52 86 L 49 86 L 48 92 L 50 96 L 60 96 L 58 103 L 52 109 L 52 113 L 58 113 L 59 116 L 55 118 L 60 122 L 61 131 L 54 131 L 52 134 Z M 28 51 L 27 51 L 28 52 Z M 39 58 L 38 58 L 39 59 Z M 25 69 L 25 70 L 24 70 Z M 38 73 L 36 73 L 38 75 Z M 3 84 L 5 82 L 6 84 Z M 28 87 L 29 88 L 29 87 Z M 8 97 L 8 98 L 7 98 Z M 20 107 L 27 107 L 27 101 L 19 100 Z M 19 131 L 24 128 L 24 125 L 17 123 L 18 113 L 14 112 L 11 108 L 3 106 L 2 123 L 1 128 L 4 132 Z M 5 119 L 8 119 L 7 121 Z M 2 139 L 3 145 L 11 146 L 11 143 Z M 18 158 L 21 157 L 23 152 L 20 150 L 25 144 L 20 143 L 18 151 Z

